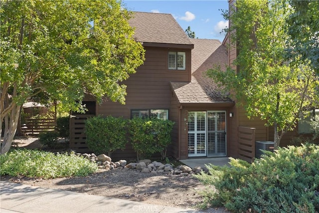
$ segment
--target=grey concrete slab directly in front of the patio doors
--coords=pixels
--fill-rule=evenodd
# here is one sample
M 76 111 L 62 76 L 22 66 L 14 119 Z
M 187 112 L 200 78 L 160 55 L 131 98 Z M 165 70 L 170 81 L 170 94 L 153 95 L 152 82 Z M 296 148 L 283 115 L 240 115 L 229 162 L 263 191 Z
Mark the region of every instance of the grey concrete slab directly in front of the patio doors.
M 228 163 L 230 162 L 230 160 L 225 157 L 225 158 L 189 158 L 186 160 L 179 160 L 180 162 L 182 162 L 183 164 L 189 166 L 190 168 L 194 168 L 194 167 L 201 167 L 204 168 L 205 164 L 213 164 L 215 166 L 230 166 Z

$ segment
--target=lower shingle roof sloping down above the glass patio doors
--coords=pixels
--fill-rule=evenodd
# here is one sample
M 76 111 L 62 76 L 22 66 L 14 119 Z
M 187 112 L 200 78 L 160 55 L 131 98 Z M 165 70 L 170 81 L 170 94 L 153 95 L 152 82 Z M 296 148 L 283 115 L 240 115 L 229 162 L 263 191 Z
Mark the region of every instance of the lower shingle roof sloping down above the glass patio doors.
M 219 40 L 191 39 L 191 82 L 170 82 L 180 103 L 232 103 L 229 93 L 223 92 L 217 84 L 206 76 L 206 71 L 214 64 L 226 70 L 228 56 L 226 47 Z

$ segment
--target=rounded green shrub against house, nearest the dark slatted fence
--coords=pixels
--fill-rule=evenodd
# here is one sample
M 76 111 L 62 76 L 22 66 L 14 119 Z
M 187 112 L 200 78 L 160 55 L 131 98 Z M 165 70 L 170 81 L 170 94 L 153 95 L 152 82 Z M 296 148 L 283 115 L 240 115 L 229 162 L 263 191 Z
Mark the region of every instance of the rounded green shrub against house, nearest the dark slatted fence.
M 124 149 L 128 143 L 127 120 L 123 118 L 92 117 L 85 123 L 86 144 L 96 154 L 107 154 Z

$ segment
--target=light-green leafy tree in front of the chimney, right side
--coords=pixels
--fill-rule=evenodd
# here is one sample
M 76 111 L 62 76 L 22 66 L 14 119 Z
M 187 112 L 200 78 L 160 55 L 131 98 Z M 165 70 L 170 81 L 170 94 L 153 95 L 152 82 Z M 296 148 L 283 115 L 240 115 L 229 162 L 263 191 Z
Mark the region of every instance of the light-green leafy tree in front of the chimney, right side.
M 239 0 L 235 6 L 228 18 L 231 46 L 236 46 L 238 53 L 232 65 L 238 70 L 231 65 L 221 72 L 216 67 L 208 75 L 234 91 L 248 117 L 259 116 L 274 127 L 278 147 L 305 109 L 316 103 L 319 83 L 313 66 L 287 57 L 291 26 L 287 19 L 293 7 L 280 0 Z

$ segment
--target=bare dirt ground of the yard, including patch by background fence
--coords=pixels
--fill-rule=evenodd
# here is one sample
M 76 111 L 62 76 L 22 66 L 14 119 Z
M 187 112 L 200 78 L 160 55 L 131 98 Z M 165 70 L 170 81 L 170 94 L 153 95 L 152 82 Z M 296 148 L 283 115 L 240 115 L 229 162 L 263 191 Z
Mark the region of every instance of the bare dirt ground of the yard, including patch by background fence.
M 41 147 L 37 138 L 20 138 L 14 140 L 14 145 L 28 149 Z M 153 175 L 137 170 L 116 169 L 99 169 L 87 177 L 42 180 L 2 176 L 2 180 L 193 210 L 198 210 L 197 205 L 203 202 L 198 192 L 206 189 L 206 186 L 193 176 Z M 204 212 L 227 213 L 223 208 L 208 209 Z

